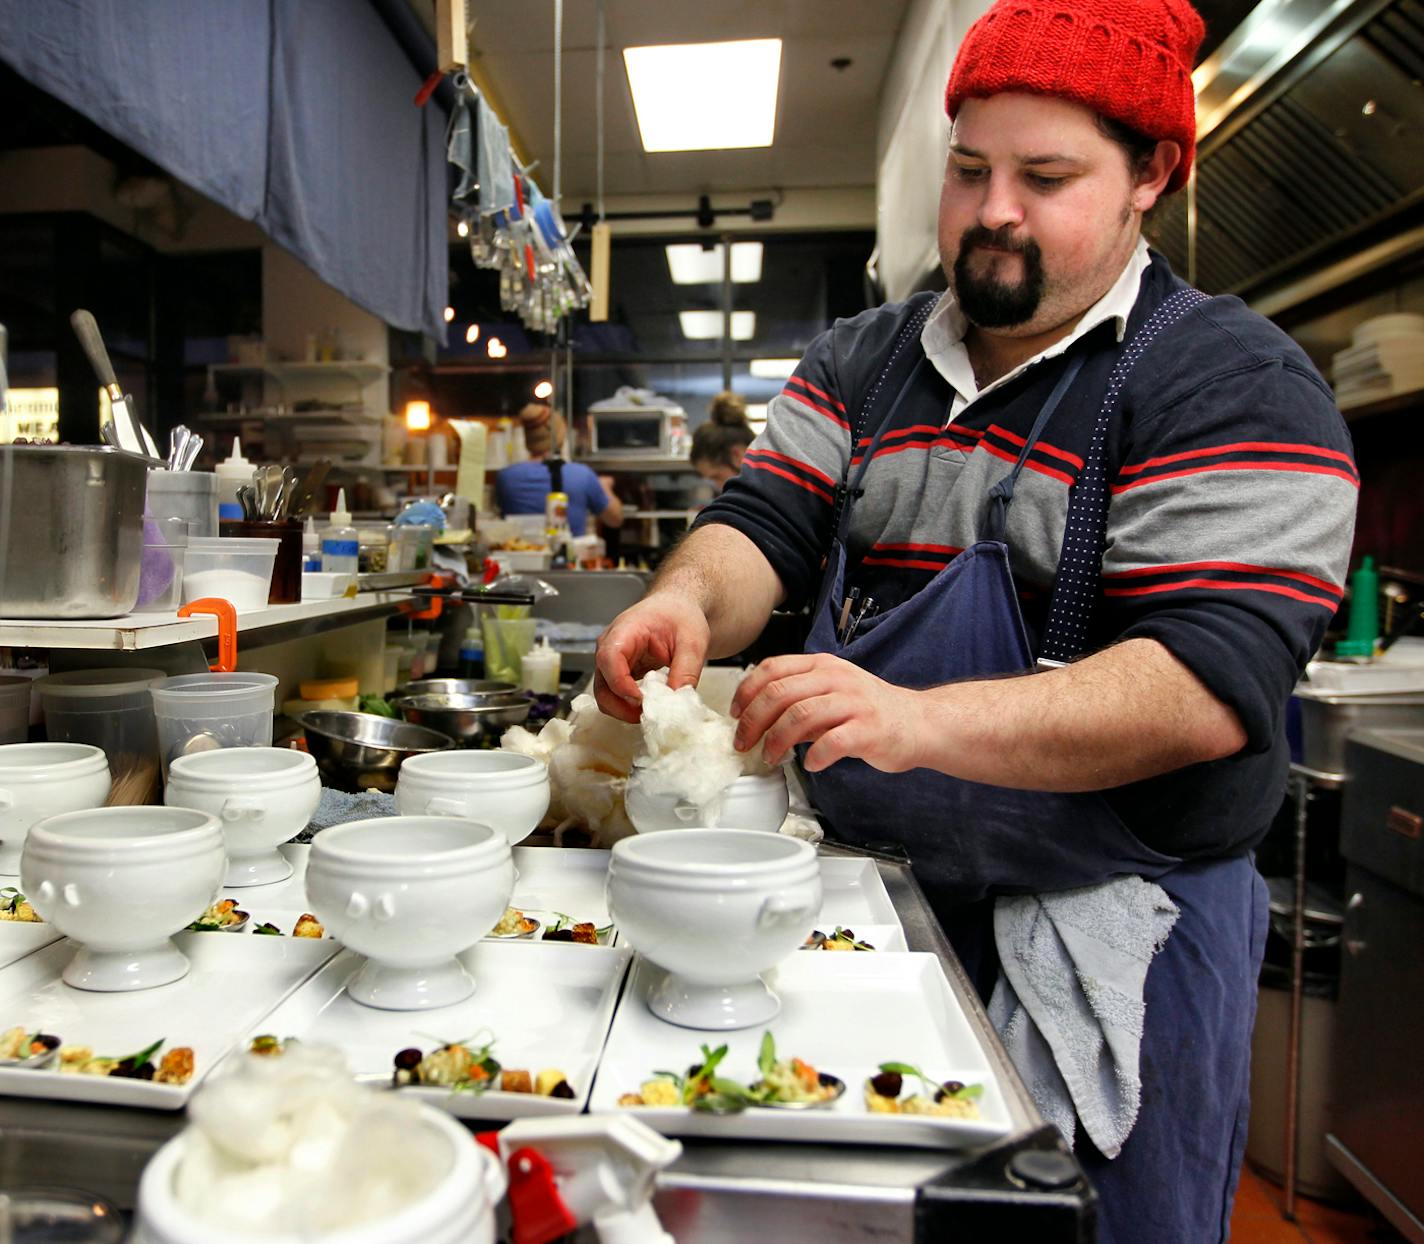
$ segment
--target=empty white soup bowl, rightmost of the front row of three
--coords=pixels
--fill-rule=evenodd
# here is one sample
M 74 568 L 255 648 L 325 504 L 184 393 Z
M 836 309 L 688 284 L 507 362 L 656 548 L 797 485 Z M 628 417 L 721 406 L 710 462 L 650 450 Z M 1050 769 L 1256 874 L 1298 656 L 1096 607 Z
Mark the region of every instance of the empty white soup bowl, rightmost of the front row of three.
M 749 1028 L 782 1006 L 760 974 L 796 952 L 820 911 L 809 843 L 758 830 L 689 828 L 614 844 L 608 911 L 668 975 L 654 1015 L 684 1028 Z

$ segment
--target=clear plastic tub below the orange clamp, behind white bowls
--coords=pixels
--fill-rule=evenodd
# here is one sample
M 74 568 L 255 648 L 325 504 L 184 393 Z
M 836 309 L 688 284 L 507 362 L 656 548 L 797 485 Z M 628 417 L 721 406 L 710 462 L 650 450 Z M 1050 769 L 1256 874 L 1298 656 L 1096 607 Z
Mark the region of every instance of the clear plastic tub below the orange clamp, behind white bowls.
M 268 747 L 276 679 L 269 673 L 184 673 L 152 687 L 164 774 L 178 756 Z

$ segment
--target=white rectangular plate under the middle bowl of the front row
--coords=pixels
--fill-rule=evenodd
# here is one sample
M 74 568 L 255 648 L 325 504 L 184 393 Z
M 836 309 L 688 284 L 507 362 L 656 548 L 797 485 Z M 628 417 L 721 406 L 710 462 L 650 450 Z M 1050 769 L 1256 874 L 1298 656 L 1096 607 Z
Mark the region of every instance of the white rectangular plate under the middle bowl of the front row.
M 394 1056 L 406 1048 L 429 1053 L 446 1042 L 480 1038 L 483 1043 L 493 1036 L 501 1066 L 524 1068 L 531 1077 L 558 1068 L 575 1096 L 565 1100 L 434 1087 L 400 1092 L 460 1119 L 578 1114 L 588 1102 L 631 956 L 627 949 L 558 942 L 518 948 L 480 942 L 460 956 L 476 979 L 473 998 L 436 1011 L 376 1011 L 347 996 L 346 982 L 363 959 L 343 951 L 246 1036 L 271 1033 L 332 1045 L 346 1055 L 353 1073 L 379 1077 L 390 1076 Z

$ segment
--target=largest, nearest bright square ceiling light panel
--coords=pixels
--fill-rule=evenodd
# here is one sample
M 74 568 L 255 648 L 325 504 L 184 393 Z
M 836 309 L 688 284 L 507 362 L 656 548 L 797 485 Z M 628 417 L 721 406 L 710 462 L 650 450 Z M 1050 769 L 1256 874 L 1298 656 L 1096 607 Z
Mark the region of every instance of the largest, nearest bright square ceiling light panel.
M 624 67 L 644 151 L 772 145 L 779 38 L 625 47 Z

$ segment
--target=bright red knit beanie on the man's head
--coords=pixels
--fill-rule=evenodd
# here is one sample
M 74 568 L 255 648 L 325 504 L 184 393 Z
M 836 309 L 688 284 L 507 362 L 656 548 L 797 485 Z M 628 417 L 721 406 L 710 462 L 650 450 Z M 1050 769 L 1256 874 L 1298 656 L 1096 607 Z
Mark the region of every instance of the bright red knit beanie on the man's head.
M 1189 0 L 995 0 L 964 36 L 944 111 L 1004 91 L 1082 104 L 1141 134 L 1171 139 L 1186 185 L 1196 148 L 1192 61 L 1206 27 Z

